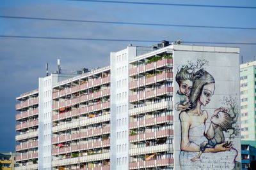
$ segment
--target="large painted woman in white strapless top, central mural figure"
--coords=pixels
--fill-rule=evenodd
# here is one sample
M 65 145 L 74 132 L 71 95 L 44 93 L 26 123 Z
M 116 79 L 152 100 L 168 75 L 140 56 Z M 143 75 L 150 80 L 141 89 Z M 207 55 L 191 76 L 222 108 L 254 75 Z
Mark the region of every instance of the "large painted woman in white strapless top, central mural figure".
M 193 87 L 190 94 L 191 110 L 181 111 L 180 126 L 181 126 L 181 141 L 180 141 L 180 167 L 181 169 L 211 169 L 214 164 L 212 159 L 218 161 L 222 159 L 220 153 L 230 150 L 232 147 L 227 143 L 220 143 L 212 148 L 205 148 L 204 158 L 201 162 L 193 162 L 191 159 L 200 152 L 200 144 L 207 141 L 205 138 L 205 122 L 208 118 L 206 110 L 202 110 L 202 106 L 210 103 L 211 97 L 215 91 L 215 81 L 211 74 L 204 69 L 196 71 Z M 218 156 L 214 153 L 219 152 Z M 209 154 L 207 154 L 209 153 Z M 230 154 L 229 154 L 230 155 Z M 222 155 L 224 157 L 224 155 Z M 233 157 L 233 158 L 232 158 Z M 234 164 L 234 155 L 230 158 L 225 157 L 230 163 Z M 212 167 L 211 167 L 212 166 Z M 234 166 L 233 166 L 234 167 Z M 225 169 L 225 168 L 223 168 Z

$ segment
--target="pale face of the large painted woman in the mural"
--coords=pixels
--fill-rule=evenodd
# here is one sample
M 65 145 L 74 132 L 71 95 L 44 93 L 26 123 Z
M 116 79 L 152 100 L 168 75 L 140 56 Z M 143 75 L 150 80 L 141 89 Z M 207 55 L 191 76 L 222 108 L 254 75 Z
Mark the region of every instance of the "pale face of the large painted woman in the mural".
M 200 95 L 200 103 L 202 103 L 204 106 L 211 101 L 211 97 L 214 94 L 215 86 L 214 83 L 209 83 L 207 85 L 204 85 L 202 94 Z

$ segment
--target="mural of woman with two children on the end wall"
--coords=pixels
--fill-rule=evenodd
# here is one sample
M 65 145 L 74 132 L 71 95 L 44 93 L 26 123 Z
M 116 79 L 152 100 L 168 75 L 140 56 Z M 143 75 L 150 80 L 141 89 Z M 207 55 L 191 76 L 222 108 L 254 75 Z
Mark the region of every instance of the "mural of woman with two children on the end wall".
M 177 65 L 178 164 L 180 169 L 240 169 L 236 148 L 236 139 L 240 138 L 239 97 L 220 95 L 218 89 L 218 99 L 211 103 L 217 90 L 216 83 L 220 82 L 216 82 L 214 73 L 207 71 L 208 64 L 206 59 L 196 59 Z M 207 107 L 210 104 L 211 108 Z

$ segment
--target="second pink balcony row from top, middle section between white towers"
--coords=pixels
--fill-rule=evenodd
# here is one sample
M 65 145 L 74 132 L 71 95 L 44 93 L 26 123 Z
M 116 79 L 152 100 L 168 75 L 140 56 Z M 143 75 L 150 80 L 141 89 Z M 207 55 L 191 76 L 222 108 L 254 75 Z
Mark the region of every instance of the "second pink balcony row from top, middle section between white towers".
M 96 93 L 101 93 L 101 92 L 96 92 Z M 109 96 L 110 90 L 103 90 L 102 91 L 102 96 Z M 60 108 L 65 108 L 69 106 L 74 106 L 75 104 L 86 102 L 86 101 L 92 101 L 95 99 L 95 93 L 76 97 L 74 99 L 68 99 L 67 101 L 62 101 L 62 102 L 57 102 L 55 104 L 52 104 L 52 110 L 58 110 Z M 101 94 L 99 95 L 101 97 Z M 100 104 L 100 103 L 99 103 Z M 102 103 L 104 104 L 104 103 Z

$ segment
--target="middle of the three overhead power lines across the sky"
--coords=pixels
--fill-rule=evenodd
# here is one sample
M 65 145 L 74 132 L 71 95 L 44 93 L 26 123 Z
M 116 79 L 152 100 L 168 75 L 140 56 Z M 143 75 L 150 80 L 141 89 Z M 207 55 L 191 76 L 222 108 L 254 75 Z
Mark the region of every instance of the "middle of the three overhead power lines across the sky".
M 249 29 L 256 30 L 256 27 L 221 27 L 221 26 L 207 26 L 207 25 L 178 25 L 178 24 L 156 24 L 156 23 L 141 23 L 141 22 L 115 22 L 115 21 L 100 21 L 100 20 L 72 20 L 60 18 L 40 18 L 40 17 L 16 17 L 0 15 L 1 18 L 15 18 L 28 20 L 52 20 L 61 22 L 87 22 L 96 24 L 122 24 L 122 25 L 148 25 L 148 26 L 164 26 L 164 27 L 195 27 L 195 28 L 211 28 L 211 29 Z

